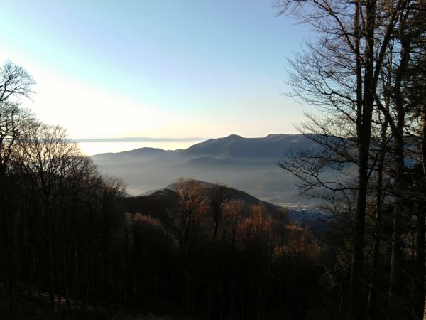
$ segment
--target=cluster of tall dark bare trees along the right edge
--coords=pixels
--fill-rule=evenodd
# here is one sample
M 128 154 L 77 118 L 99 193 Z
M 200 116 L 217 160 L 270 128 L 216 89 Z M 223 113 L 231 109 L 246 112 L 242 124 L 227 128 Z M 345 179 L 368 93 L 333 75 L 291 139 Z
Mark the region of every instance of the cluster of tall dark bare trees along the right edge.
M 322 148 L 279 164 L 327 201 L 339 230 L 330 298 L 340 307 L 323 317 L 424 319 L 426 2 L 275 4 L 317 33 L 289 82 L 318 107 L 299 129 Z

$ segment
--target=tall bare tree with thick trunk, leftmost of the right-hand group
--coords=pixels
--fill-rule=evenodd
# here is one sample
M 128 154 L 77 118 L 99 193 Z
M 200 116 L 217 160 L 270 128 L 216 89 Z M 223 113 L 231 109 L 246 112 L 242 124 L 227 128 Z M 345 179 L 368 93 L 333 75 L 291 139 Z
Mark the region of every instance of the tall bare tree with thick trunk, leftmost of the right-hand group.
M 305 53 L 293 62 L 295 71 L 291 75 L 295 95 L 304 102 L 319 106 L 324 114 L 334 115 L 328 119 L 337 119 L 337 126 L 341 131 L 335 135 L 337 130 L 334 129 L 330 135 L 324 123 L 331 124 L 331 121 L 314 121 L 313 126 L 307 127 L 315 129 L 313 132 L 316 135 L 311 137 L 326 146 L 326 152 L 332 151 L 332 156 L 327 161 L 322 161 L 320 168 L 330 163 L 344 164 L 353 161 L 354 154 L 358 158 L 354 161 L 358 166 L 358 173 L 347 315 L 349 319 L 364 317 L 361 287 L 375 94 L 389 43 L 405 5 L 404 0 L 276 2 L 280 13 L 288 12 L 303 23 L 309 23 L 320 36 L 317 43 L 307 43 Z M 333 127 L 337 128 L 336 125 Z M 343 137 L 349 141 L 352 139 L 355 144 L 351 148 L 355 146 L 356 152 L 349 153 L 348 158 L 342 139 L 337 139 L 338 143 L 329 143 L 330 137 L 332 140 L 333 137 Z M 283 167 L 286 168 L 285 164 Z M 318 171 L 313 171 L 312 176 L 316 178 L 317 173 Z M 319 186 L 323 187 L 324 183 Z M 339 185 L 337 188 L 333 185 L 330 188 L 333 193 L 344 191 Z

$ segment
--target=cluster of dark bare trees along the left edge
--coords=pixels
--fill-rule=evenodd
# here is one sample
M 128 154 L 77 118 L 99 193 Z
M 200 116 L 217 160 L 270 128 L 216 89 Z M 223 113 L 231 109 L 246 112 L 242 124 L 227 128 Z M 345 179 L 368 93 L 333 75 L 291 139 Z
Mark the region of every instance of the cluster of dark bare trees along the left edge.
M 10 61 L 0 69 L 2 298 L 10 309 L 22 292 L 40 300 L 48 294 L 51 306 L 89 304 L 119 272 L 112 257 L 124 183 L 101 176 L 65 129 L 19 106 L 33 84 Z

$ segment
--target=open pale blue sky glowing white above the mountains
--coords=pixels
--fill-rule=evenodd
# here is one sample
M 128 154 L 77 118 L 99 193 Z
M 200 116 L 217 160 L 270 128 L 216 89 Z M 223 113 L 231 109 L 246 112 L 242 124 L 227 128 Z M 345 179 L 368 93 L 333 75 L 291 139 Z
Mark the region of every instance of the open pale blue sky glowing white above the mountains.
M 25 105 L 72 139 L 262 137 L 303 119 L 280 92 L 310 33 L 270 0 L 0 4 L 0 59 L 33 75 Z

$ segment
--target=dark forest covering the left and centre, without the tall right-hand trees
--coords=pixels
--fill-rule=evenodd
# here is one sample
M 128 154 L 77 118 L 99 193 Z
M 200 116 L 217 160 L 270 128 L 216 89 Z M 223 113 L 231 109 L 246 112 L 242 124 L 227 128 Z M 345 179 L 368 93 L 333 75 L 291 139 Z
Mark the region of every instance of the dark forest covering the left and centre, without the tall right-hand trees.
M 1 75 L 0 315 L 308 313 L 321 248 L 284 209 L 192 178 L 126 197 L 123 181 L 99 174 L 65 129 L 19 107 L 32 95 L 23 68 L 6 61 Z

